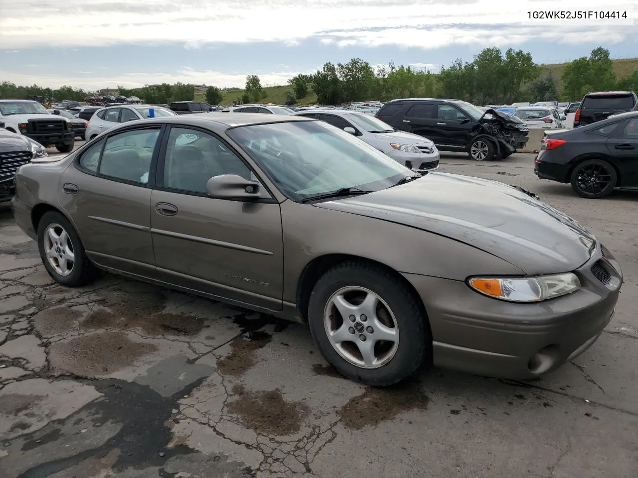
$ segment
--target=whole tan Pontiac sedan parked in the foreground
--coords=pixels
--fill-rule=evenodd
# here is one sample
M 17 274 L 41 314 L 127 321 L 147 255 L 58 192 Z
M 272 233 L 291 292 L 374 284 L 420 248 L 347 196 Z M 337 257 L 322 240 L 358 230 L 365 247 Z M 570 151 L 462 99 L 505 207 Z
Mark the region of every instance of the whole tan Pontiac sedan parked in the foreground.
M 22 166 L 15 219 L 48 273 L 98 269 L 308 322 L 343 375 L 422 364 L 529 378 L 611 319 L 618 263 L 499 182 L 415 174 L 329 124 L 251 113 L 122 124 Z

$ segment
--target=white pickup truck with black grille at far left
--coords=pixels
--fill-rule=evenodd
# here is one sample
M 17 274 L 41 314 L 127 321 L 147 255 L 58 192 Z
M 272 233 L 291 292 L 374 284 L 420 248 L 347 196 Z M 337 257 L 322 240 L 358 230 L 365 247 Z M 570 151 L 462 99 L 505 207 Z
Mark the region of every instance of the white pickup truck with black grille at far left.
M 37 101 L 0 99 L 0 122 L 7 131 L 23 134 L 45 148 L 55 146 L 61 153 L 73 150 L 75 133 L 70 121 L 50 114 Z

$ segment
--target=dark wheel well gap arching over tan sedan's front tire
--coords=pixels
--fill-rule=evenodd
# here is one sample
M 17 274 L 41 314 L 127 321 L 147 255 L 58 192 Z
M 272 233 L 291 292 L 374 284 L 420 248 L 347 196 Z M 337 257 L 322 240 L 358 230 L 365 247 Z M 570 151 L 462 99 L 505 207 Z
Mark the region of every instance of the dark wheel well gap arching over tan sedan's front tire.
M 316 282 L 329 269 L 333 268 L 337 264 L 348 261 L 375 264 L 376 266 L 385 269 L 391 275 L 399 279 L 417 301 L 423 317 L 427 318 L 426 306 L 421 300 L 421 296 L 419 295 L 419 293 L 417 293 L 417 289 L 415 289 L 414 286 L 412 286 L 412 284 L 410 284 L 410 282 L 405 277 L 403 277 L 403 275 L 396 272 L 396 270 L 394 270 L 390 266 L 387 266 L 386 264 L 380 263 L 378 261 L 373 261 L 372 259 L 366 259 L 366 257 L 352 256 L 351 254 L 327 254 L 326 256 L 315 257 L 315 259 L 310 261 L 299 277 L 299 282 L 297 284 L 297 308 L 299 308 L 299 312 L 301 312 L 301 316 L 303 317 L 304 321 L 308 321 L 308 302 L 310 300 L 310 294 L 312 293 L 313 287 L 315 287 Z M 429 327 L 429 322 L 427 322 L 426 325 Z

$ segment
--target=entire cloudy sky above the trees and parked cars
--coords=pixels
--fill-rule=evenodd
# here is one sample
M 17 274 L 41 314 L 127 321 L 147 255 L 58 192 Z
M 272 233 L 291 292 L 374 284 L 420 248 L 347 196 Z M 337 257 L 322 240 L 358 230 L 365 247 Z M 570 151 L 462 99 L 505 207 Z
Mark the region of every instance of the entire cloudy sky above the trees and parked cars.
M 630 18 L 526 24 L 528 11 L 600 10 L 600 0 L 0 0 L 0 81 L 99 89 L 145 83 L 284 84 L 327 61 L 438 69 L 482 48 L 563 62 L 598 45 L 638 56 Z M 635 6 L 635 11 L 632 10 Z M 634 22 L 634 25 L 627 23 Z M 598 23 L 598 24 L 595 24 Z

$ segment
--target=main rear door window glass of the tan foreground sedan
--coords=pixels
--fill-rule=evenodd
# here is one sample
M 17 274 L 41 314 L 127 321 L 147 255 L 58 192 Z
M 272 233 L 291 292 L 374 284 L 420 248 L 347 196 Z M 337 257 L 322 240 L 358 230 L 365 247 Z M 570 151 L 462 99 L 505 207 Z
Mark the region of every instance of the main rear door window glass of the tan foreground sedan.
M 136 129 L 110 136 L 106 140 L 98 174 L 146 184 L 158 137 L 159 128 Z

